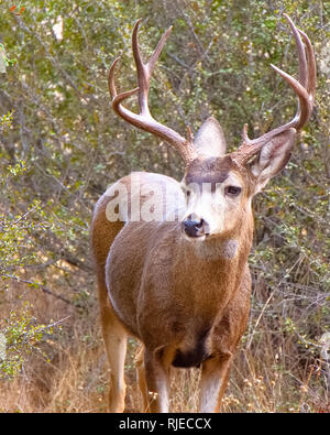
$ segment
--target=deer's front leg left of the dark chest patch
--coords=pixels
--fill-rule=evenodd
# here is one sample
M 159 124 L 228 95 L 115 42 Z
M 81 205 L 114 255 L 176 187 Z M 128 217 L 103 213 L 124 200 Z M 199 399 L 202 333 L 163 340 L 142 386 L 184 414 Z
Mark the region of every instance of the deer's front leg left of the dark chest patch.
M 144 351 L 144 374 L 146 385 L 146 411 L 168 412 L 169 405 L 169 367 L 163 359 L 162 351 Z M 143 372 L 140 373 L 142 376 Z M 143 384 L 143 378 L 141 378 Z M 140 380 L 140 385 L 141 385 Z

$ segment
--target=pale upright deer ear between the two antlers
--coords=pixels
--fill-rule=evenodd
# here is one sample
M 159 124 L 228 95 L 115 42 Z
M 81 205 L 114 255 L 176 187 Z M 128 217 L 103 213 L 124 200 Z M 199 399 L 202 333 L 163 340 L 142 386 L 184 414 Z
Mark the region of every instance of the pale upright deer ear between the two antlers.
M 199 154 L 222 156 L 226 154 L 226 140 L 222 128 L 216 118 L 208 118 L 198 130 L 194 145 Z

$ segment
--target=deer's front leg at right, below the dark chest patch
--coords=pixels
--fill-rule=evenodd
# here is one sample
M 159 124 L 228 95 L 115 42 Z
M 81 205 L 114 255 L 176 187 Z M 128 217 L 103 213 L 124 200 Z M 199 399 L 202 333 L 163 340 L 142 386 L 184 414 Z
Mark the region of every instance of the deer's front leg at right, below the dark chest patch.
M 228 384 L 232 354 L 230 351 L 208 359 L 201 367 L 200 412 L 219 412 Z

